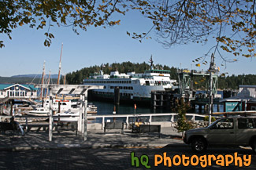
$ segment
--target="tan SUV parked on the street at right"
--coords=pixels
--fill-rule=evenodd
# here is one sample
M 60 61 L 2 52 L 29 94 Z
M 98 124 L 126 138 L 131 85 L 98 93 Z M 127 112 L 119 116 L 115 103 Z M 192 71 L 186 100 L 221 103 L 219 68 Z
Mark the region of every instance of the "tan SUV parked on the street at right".
M 207 146 L 251 146 L 256 153 L 256 117 L 220 118 L 206 128 L 185 132 L 184 143 L 198 153 Z

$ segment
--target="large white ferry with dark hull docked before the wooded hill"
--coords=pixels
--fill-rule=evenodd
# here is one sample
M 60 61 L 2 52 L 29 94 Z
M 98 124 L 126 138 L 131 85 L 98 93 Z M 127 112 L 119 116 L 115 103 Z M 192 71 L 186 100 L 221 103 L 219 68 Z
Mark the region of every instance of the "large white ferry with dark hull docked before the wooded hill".
M 150 63 L 150 70 L 143 74 L 111 71 L 109 75 L 100 71 L 83 79 L 83 85 L 104 85 L 104 89 L 91 90 L 92 99 L 114 99 L 114 91 L 118 88 L 121 102 L 149 103 L 152 91 L 173 90 L 173 84 L 176 83 L 176 80 L 170 79 L 170 71 L 154 69 L 152 56 Z

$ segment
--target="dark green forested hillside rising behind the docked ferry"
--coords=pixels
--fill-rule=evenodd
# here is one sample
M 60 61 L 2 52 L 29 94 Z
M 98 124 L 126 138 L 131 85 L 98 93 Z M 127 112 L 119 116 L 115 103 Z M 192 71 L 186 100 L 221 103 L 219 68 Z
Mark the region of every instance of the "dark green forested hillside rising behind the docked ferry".
M 88 78 L 89 74 L 98 73 L 100 70 L 104 72 L 104 74 L 109 74 L 112 70 L 117 70 L 119 73 L 127 73 L 129 71 L 135 71 L 136 73 L 143 73 L 147 69 L 150 68 L 150 65 L 147 63 L 106 63 L 102 66 L 93 66 L 93 67 L 84 67 L 80 71 L 73 71 L 72 73 L 66 74 L 66 82 L 69 85 L 79 85 L 82 83 L 84 78 Z M 176 74 L 176 67 L 168 67 L 162 66 L 161 64 L 157 64 L 154 67 L 163 70 L 171 71 L 171 78 L 178 79 Z M 226 77 L 218 77 L 218 89 L 238 89 L 239 85 L 256 85 L 256 75 L 254 74 L 246 74 L 246 75 L 231 75 Z M 195 78 L 194 79 L 194 87 L 195 89 L 205 89 L 207 86 L 206 78 Z

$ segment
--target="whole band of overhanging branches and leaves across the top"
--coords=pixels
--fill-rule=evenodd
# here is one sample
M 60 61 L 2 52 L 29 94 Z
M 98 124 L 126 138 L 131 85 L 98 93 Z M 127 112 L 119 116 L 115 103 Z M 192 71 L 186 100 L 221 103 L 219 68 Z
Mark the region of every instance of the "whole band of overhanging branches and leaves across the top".
M 0 34 L 11 38 L 17 27 L 28 24 L 36 29 L 46 28 L 44 45 L 50 46 L 54 34 L 50 27 L 70 26 L 87 31 L 87 27 L 120 24 L 110 20 L 113 13 L 124 15 L 129 9 L 152 20 L 153 27 L 142 34 L 129 33 L 132 38 L 150 38 L 158 34 L 165 47 L 189 42 L 206 43 L 210 36 L 216 45 L 209 52 L 221 55 L 221 50 L 233 56 L 256 56 L 256 0 L 8 0 L 0 1 Z M 115 15 L 117 16 L 117 15 Z M 211 37 L 210 37 L 211 38 Z M 0 47 L 3 47 L 0 40 Z M 206 53 L 206 56 L 209 54 Z M 201 59 L 201 58 L 199 58 Z M 235 59 L 236 60 L 236 59 Z M 234 61 L 234 60 L 232 60 Z

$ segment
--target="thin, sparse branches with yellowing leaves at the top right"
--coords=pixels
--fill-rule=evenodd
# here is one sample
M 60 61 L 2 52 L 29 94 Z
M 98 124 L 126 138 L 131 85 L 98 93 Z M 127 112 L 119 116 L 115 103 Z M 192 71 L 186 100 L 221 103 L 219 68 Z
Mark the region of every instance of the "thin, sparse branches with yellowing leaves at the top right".
M 255 0 L 161 0 L 138 1 L 134 5 L 134 9 L 152 20 L 154 26 L 150 31 L 157 32 L 158 41 L 165 47 L 188 42 L 206 43 L 211 35 L 217 43 L 209 52 L 213 50 L 224 61 L 228 60 L 221 55 L 220 49 L 234 56 L 256 56 L 255 8 Z M 150 31 L 128 34 L 141 41 Z

